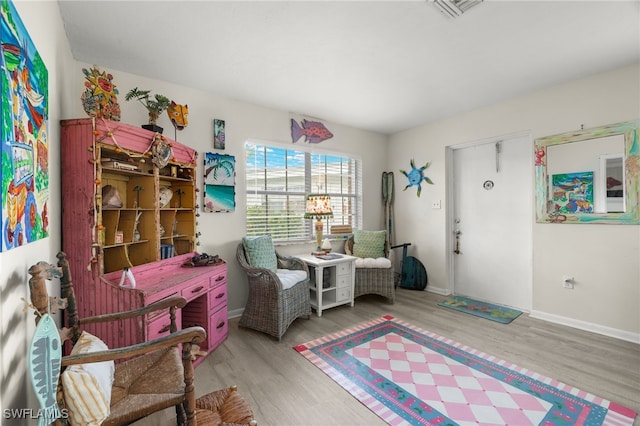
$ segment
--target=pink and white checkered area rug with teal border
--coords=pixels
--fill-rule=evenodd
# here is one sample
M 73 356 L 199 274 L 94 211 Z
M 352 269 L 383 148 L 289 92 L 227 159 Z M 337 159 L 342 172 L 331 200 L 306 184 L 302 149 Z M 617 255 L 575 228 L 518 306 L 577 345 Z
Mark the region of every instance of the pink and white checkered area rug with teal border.
M 392 316 L 294 347 L 390 425 L 632 425 L 636 413 Z

